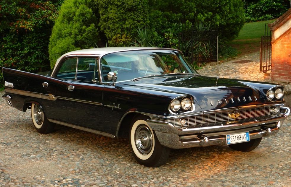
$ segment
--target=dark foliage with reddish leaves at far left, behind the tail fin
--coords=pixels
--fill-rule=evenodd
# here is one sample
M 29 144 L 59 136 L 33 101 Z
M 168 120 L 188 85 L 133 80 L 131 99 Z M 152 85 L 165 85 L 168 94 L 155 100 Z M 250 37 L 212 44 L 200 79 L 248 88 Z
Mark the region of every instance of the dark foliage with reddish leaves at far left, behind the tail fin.
M 40 71 L 49 64 L 49 35 L 61 2 L 1 0 L 0 67 Z

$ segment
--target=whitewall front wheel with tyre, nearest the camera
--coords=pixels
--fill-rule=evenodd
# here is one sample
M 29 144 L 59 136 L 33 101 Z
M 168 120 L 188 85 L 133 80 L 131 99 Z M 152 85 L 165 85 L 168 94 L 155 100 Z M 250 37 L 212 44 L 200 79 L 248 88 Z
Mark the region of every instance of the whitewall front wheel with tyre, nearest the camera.
M 138 116 L 131 123 L 130 147 L 135 159 L 147 167 L 164 164 L 169 157 L 170 148 L 160 144 L 155 132 L 147 124 L 147 118 Z

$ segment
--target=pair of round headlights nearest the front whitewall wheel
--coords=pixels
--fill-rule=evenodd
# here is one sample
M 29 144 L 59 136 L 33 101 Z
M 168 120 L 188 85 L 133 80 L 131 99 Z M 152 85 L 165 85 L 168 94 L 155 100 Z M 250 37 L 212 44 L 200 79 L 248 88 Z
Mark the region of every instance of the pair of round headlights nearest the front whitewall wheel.
M 194 104 L 189 97 L 179 97 L 172 100 L 169 109 L 174 113 L 186 112 L 189 110 L 194 110 Z

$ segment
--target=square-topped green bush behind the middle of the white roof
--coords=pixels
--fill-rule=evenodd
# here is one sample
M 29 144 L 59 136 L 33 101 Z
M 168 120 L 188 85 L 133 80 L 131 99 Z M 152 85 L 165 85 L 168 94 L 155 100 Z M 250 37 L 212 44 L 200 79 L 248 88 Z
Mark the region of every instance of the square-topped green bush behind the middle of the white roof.
M 95 0 L 99 8 L 99 27 L 109 46 L 130 45 L 136 36 L 136 29 L 148 21 L 147 0 Z

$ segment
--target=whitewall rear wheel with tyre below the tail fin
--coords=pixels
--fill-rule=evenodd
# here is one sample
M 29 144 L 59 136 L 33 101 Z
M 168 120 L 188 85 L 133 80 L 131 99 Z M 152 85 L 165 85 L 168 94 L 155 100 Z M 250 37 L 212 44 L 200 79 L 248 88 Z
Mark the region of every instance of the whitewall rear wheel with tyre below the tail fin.
M 54 130 L 55 124 L 46 119 L 41 105 L 31 104 L 31 118 L 36 131 L 39 133 L 48 134 Z

